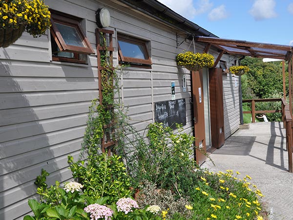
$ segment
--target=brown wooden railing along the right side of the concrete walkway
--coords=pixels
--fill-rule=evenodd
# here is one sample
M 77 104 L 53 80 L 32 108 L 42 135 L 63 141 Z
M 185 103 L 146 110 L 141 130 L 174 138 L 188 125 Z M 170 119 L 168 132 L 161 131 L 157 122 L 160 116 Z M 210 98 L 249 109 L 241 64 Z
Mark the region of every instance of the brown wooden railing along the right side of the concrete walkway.
M 281 102 L 282 110 L 255 110 L 256 102 Z M 288 151 L 288 163 L 289 172 L 293 173 L 293 129 L 292 129 L 292 115 L 290 113 L 290 108 L 285 98 L 272 98 L 272 99 L 245 99 L 242 103 L 251 103 L 251 111 L 243 111 L 243 113 L 251 113 L 252 123 L 255 122 L 256 113 L 274 113 L 282 112 L 282 120 L 284 128 L 286 129 L 286 151 Z

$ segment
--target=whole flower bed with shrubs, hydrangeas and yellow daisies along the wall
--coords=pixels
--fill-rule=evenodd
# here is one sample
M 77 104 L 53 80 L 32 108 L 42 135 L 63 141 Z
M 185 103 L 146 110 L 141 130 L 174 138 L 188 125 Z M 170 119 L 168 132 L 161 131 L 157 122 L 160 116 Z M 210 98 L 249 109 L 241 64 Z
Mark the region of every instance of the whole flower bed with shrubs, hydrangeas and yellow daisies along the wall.
M 29 199 L 34 217 L 24 220 L 263 220 L 263 195 L 251 177 L 196 169 L 185 154 L 194 137 L 178 129 L 151 124 L 149 142 L 127 158 L 136 169 L 117 155 L 91 153 L 87 164 L 68 156 L 78 182 L 49 188 L 42 170 L 35 182 L 41 202 Z

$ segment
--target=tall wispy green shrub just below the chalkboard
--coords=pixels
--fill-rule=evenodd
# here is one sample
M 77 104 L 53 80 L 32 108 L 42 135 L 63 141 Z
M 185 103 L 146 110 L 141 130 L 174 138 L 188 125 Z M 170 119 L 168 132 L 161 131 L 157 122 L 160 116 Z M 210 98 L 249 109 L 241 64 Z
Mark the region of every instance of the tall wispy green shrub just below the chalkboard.
M 178 133 L 162 123 L 148 125 L 147 142 L 140 142 L 133 148 L 124 149 L 127 168 L 135 185 L 148 180 L 157 188 L 172 189 L 180 194 L 178 174 L 194 169 L 194 137 L 184 133 L 178 125 Z

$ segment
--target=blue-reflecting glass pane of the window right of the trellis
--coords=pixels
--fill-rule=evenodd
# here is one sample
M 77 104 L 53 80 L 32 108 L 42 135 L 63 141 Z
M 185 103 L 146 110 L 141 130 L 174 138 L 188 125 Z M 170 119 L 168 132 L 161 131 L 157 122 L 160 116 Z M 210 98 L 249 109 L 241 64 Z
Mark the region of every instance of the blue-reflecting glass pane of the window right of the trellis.
M 131 57 L 136 59 L 146 60 L 146 54 L 144 52 L 144 46 L 140 44 L 128 43 L 122 40 L 118 40 L 120 49 L 122 50 L 122 54 L 125 57 Z

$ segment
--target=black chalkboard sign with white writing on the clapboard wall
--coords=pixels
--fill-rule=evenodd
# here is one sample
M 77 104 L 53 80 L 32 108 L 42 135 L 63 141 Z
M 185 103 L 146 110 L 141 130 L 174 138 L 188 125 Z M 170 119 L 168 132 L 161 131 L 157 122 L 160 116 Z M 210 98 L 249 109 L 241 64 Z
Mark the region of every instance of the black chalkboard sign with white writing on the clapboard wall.
M 155 103 L 155 121 L 164 126 L 176 128 L 175 123 L 186 125 L 185 99 L 169 100 Z

